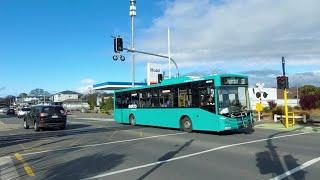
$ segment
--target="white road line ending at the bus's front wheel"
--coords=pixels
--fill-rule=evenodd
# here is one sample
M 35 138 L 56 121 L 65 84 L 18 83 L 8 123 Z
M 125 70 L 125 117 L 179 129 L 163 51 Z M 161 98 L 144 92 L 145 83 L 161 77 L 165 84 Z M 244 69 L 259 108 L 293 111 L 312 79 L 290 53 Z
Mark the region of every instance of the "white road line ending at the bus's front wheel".
M 48 153 L 48 152 L 63 151 L 63 150 L 70 150 L 70 149 L 79 149 L 79 148 L 87 148 L 87 147 L 97 147 L 97 146 L 103 146 L 103 145 L 109 145 L 109 144 L 118 144 L 118 143 L 132 142 L 132 141 L 159 138 L 159 137 L 166 137 L 166 136 L 176 136 L 176 135 L 180 135 L 180 134 L 186 134 L 186 132 L 173 133 L 173 134 L 162 134 L 162 135 L 148 136 L 148 137 L 142 137 L 142 138 L 126 139 L 126 140 L 111 141 L 111 142 L 106 142 L 106 143 L 88 144 L 88 145 L 82 145 L 82 146 L 74 146 L 74 147 L 67 147 L 67 148 L 60 148 L 60 149 L 50 149 L 50 150 L 31 152 L 31 153 L 20 153 L 20 154 L 22 156 L 28 156 L 28 155 L 42 154 L 42 153 Z

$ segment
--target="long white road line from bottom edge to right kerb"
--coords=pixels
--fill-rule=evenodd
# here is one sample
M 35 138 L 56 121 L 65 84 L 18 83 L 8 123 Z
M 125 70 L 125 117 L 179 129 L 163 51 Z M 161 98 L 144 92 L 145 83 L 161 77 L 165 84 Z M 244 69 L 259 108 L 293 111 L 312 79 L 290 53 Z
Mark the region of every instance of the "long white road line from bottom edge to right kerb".
M 167 162 L 171 162 L 171 161 L 176 161 L 176 160 L 179 160 L 179 159 L 189 158 L 189 157 L 193 157 L 193 156 L 197 156 L 197 155 L 201 155 L 201 154 L 205 154 L 205 153 L 209 153 L 209 152 L 213 152 L 213 151 L 217 151 L 217 150 L 225 149 L 225 148 L 229 148 L 229 147 L 240 146 L 240 145 L 245 145 L 245 144 L 252 144 L 252 143 L 267 141 L 267 140 L 271 140 L 271 139 L 279 139 L 279 138 L 285 138 L 285 137 L 291 137 L 291 136 L 298 136 L 298 135 L 303 135 L 303 134 L 308 134 L 308 133 L 309 132 L 297 133 L 297 134 L 289 134 L 289 135 L 283 135 L 283 136 L 276 136 L 276 137 L 272 137 L 272 138 L 264 138 L 264 139 L 258 139 L 258 140 L 253 140 L 253 141 L 247 141 L 247 142 L 242 142 L 242 143 L 229 144 L 229 145 L 220 146 L 220 147 L 217 147 L 217 148 L 208 149 L 208 150 L 205 150 L 205 151 L 200 151 L 200 152 L 197 152 L 197 153 L 192 153 L 192 154 L 188 154 L 188 155 L 184 155 L 184 156 L 178 156 L 178 157 L 167 159 L 167 160 L 163 160 L 163 161 L 156 161 L 156 162 L 149 163 L 149 164 L 144 164 L 144 165 L 141 165 L 141 166 L 135 166 L 135 167 L 132 167 L 132 168 L 127 168 L 127 169 L 122 169 L 122 170 L 113 171 L 113 172 L 109 172 L 109 173 L 104 173 L 104 174 L 96 175 L 96 176 L 93 176 L 93 177 L 84 178 L 82 180 L 104 178 L 106 176 L 111 176 L 111 175 L 120 174 L 120 173 L 124 173 L 124 172 L 128 172 L 128 171 L 133 171 L 133 170 L 137 170 L 137 169 L 141 169 L 141 168 L 155 166 L 155 165 L 158 165 L 158 164 L 163 164 L 163 163 L 167 163 Z

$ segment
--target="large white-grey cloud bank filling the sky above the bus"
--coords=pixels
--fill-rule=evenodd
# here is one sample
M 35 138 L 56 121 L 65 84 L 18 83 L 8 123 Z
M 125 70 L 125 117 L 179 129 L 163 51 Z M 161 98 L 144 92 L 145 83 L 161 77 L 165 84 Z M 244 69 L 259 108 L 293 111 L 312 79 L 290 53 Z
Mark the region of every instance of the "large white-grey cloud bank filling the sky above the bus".
M 176 0 L 138 36 L 137 49 L 167 52 L 179 65 L 320 65 L 319 0 Z M 150 59 L 140 56 L 140 59 Z M 227 65 L 227 64 L 225 64 Z

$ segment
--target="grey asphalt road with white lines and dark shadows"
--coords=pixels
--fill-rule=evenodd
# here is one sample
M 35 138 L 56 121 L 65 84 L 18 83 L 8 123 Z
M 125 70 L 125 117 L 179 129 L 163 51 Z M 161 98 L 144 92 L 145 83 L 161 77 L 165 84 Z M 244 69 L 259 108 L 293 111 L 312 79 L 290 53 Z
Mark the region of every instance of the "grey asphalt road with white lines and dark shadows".
M 116 124 L 109 118 L 88 115 L 69 116 L 68 122 L 66 130 L 36 133 L 23 129 L 21 119 L 0 115 L 0 177 L 68 180 L 320 177 L 319 133 L 259 128 L 252 133 L 184 133 Z

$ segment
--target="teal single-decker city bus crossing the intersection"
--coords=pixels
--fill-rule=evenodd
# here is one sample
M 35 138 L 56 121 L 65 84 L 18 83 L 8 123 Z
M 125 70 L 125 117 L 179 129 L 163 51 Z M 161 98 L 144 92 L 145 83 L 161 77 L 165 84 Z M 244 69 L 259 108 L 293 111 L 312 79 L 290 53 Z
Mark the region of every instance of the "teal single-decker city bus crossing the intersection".
M 118 123 L 225 131 L 253 126 L 248 77 L 237 74 L 185 76 L 114 92 Z

